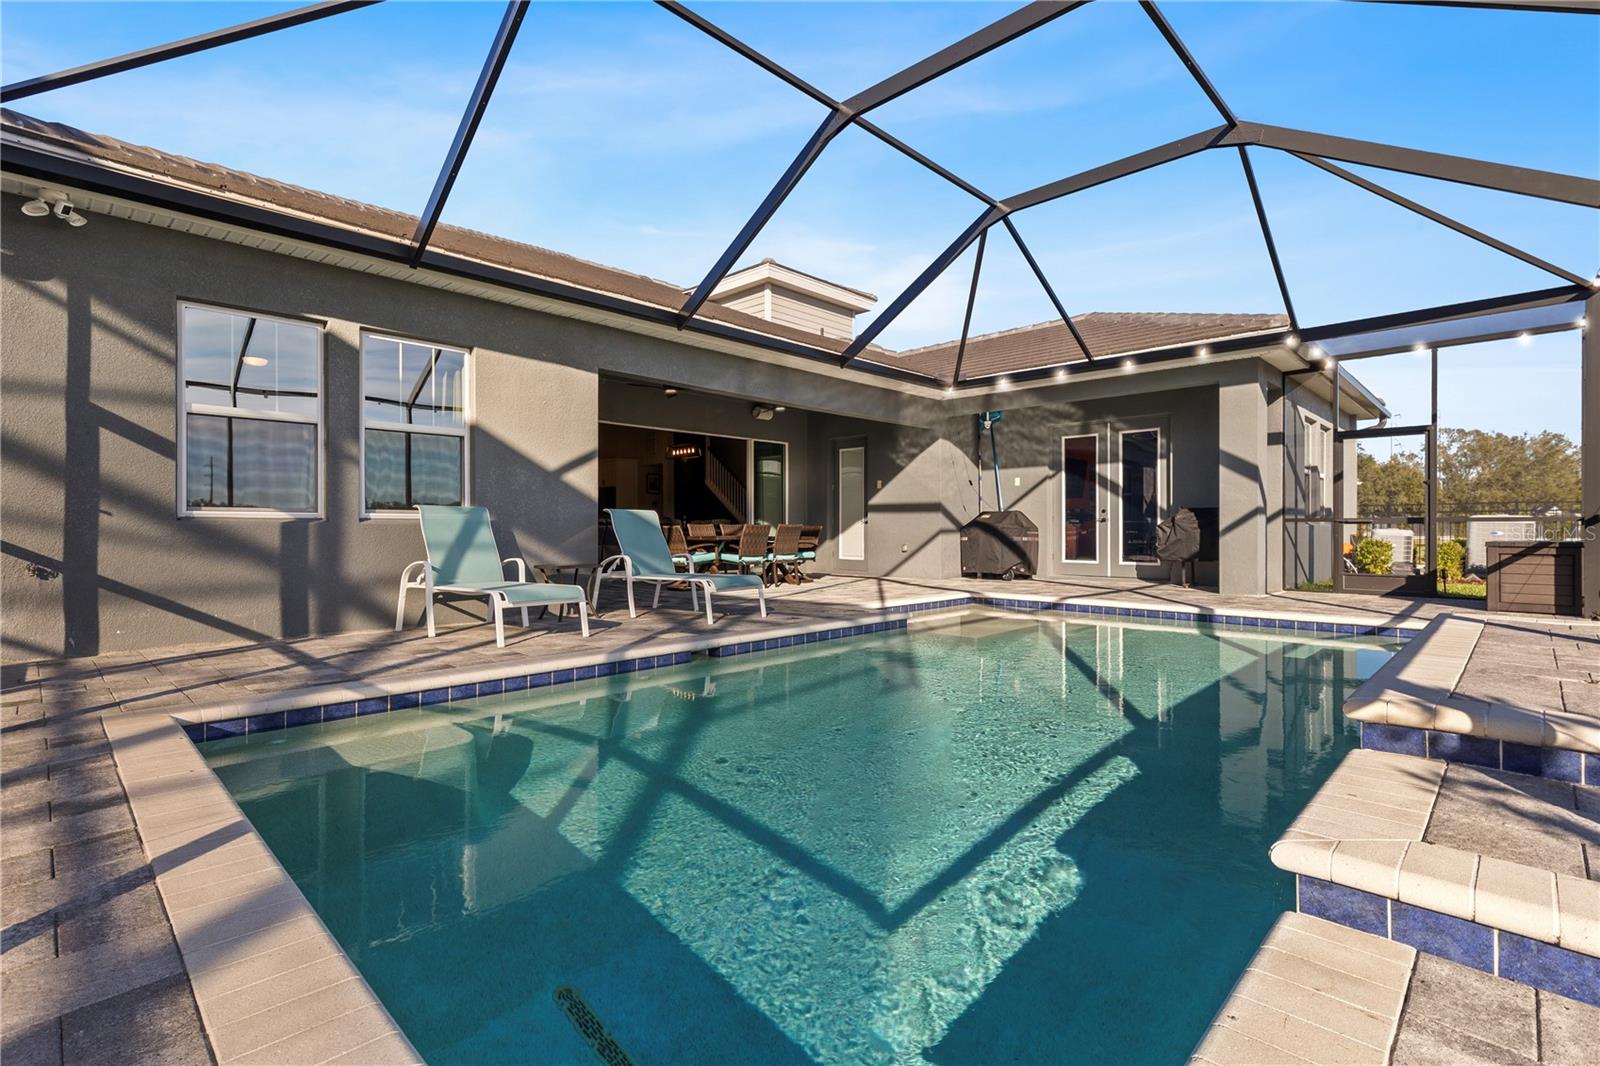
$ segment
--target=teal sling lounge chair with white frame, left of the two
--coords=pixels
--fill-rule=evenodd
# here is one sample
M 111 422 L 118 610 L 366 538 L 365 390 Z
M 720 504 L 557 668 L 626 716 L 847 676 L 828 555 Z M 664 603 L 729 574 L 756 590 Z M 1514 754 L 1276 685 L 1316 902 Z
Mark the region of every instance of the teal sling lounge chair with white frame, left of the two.
M 538 570 L 528 579 L 528 563 L 522 559 L 501 559 L 490 528 L 490 512 L 485 507 L 442 507 L 418 504 L 422 523 L 422 549 L 427 559 L 418 560 L 400 575 L 400 603 L 395 607 L 395 629 L 405 626 L 405 594 L 422 589 L 427 618 L 427 635 L 434 631 L 434 597 L 454 595 L 488 602 L 494 619 L 494 645 L 506 647 L 506 608 L 522 608 L 522 624 L 528 624 L 530 607 L 578 607 L 578 624 L 589 635 L 589 603 L 576 584 L 554 584 Z M 517 579 L 506 579 L 506 565 L 517 570 Z

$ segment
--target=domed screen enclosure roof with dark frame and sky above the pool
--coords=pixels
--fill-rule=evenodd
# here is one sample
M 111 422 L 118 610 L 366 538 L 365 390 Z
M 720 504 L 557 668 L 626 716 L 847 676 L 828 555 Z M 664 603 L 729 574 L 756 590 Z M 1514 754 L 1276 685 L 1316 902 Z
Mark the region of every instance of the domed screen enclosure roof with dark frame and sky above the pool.
M 1571 328 L 1600 266 L 1586 10 L 320 3 L 222 26 L 227 6 L 154 6 L 141 40 L 51 14 L 67 21 L 51 48 L 8 46 L 24 77 L 0 96 L 419 216 L 360 240 L 251 219 L 286 235 L 968 391 L 1262 344 L 1314 365 L 1350 335 L 1429 343 L 1434 323 L 1525 309 Z M 29 18 L 11 13 L 10 42 L 35 40 Z M 363 42 L 381 54 L 315 90 L 280 75 Z M 1482 91 L 1437 98 L 1443 62 L 1480 69 Z M 1566 136 L 1525 122 L 1533 98 L 1560 101 Z M 18 146 L 8 166 L 174 195 Z M 221 197 L 184 206 L 240 216 Z M 493 271 L 438 248 L 438 224 L 682 298 Z M 843 341 L 722 320 L 710 293 L 766 258 L 877 306 Z M 1253 319 L 1163 344 L 1120 336 L 1115 312 Z

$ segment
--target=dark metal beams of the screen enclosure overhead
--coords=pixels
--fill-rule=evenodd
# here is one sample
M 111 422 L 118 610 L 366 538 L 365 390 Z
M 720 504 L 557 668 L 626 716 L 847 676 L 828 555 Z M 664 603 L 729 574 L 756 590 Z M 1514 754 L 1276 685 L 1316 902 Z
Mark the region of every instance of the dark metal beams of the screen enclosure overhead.
M 56 74 L 14 82 L 0 88 L 0 102 L 10 104 L 38 93 L 82 85 L 107 75 L 147 67 L 150 64 L 165 62 L 181 56 L 190 56 L 200 51 L 219 48 L 222 45 L 274 34 L 282 29 L 328 19 L 347 11 L 373 6 L 376 2 L 378 0 L 315 3 L 210 34 L 187 37 L 168 45 L 146 48 Z M 821 123 L 800 147 L 798 154 L 779 174 L 760 203 L 755 205 L 744 226 L 739 227 L 739 230 L 726 243 L 725 250 L 720 256 L 717 256 L 715 262 L 701 282 L 688 291 L 677 312 L 669 314 L 667 319 L 680 330 L 726 333 L 725 325 L 707 317 L 707 299 L 717 285 L 730 274 L 730 271 L 733 271 L 749 253 L 763 227 L 766 227 L 774 214 L 784 206 L 790 194 L 802 187 L 808 173 L 813 170 L 813 165 L 824 158 L 830 149 L 838 150 L 834 146 L 840 144 L 843 134 L 846 133 L 870 138 L 898 157 L 909 160 L 917 168 L 922 168 L 941 182 L 958 190 L 965 197 L 979 202 L 982 206 L 976 218 L 973 218 L 965 229 L 962 229 L 954 240 L 950 240 L 944 250 L 934 256 L 926 269 L 923 269 L 909 285 L 894 295 L 883 311 L 880 311 L 842 352 L 824 349 L 814 349 L 810 352 L 813 357 L 829 359 L 842 367 L 874 371 L 882 371 L 885 367 L 891 367 L 894 360 L 885 357 L 883 351 L 875 347 L 874 343 L 891 323 L 901 319 L 936 280 L 954 271 L 958 264 L 965 271 L 966 259 L 971 259 L 970 285 L 963 285 L 966 290 L 966 303 L 962 336 L 958 341 L 952 343 L 955 351 L 950 368 L 947 371 L 941 368 L 938 373 L 942 375 L 946 383 L 952 387 L 989 387 L 995 384 L 995 379 L 1002 371 L 986 371 L 984 376 L 963 375 L 963 360 L 968 354 L 968 341 L 973 325 L 973 309 L 979 298 L 979 282 L 984 277 L 986 253 L 990 254 L 990 259 L 995 253 L 995 245 L 990 242 L 990 237 L 1002 242 L 1002 246 L 1013 250 L 1013 254 L 1021 256 L 1018 262 L 1026 262 L 1027 275 L 1037 282 L 1042 298 L 1048 301 L 1048 307 L 1053 309 L 1051 314 L 1059 319 L 1059 325 L 1056 327 L 1056 333 L 1059 336 L 1051 346 L 1048 346 L 1050 362 L 1042 365 L 1026 365 L 1026 360 L 1022 360 L 1022 363 L 1014 363 L 1011 368 L 1003 371 L 1006 379 L 1018 383 L 1045 376 L 1064 378 L 1075 373 L 1104 370 L 1107 362 L 1114 362 L 1117 365 L 1144 365 L 1194 359 L 1206 354 L 1261 349 L 1267 346 L 1283 346 L 1291 349 L 1301 347 L 1302 352 L 1309 352 L 1314 351 L 1314 344 L 1326 343 L 1323 344 L 1326 354 L 1341 355 L 1346 351 L 1371 351 L 1373 344 L 1387 343 L 1392 336 L 1419 338 L 1422 333 L 1429 333 L 1424 327 L 1430 327 L 1434 323 L 1451 323 L 1445 331 L 1456 335 L 1464 330 L 1464 327 L 1461 327 L 1462 320 L 1477 315 L 1515 317 L 1517 314 L 1528 314 L 1530 309 L 1539 311 L 1539 328 L 1560 328 L 1558 325 L 1554 325 L 1560 322 L 1566 322 L 1570 328 L 1570 325 L 1576 323 L 1576 317 L 1582 314 L 1581 301 L 1594 293 L 1594 279 L 1558 266 L 1507 240 L 1469 226 L 1467 222 L 1458 221 L 1413 197 L 1403 195 L 1402 192 L 1374 181 L 1366 174 L 1352 171 L 1347 166 L 1410 174 L 1429 181 L 1470 186 L 1590 210 L 1600 210 L 1600 181 L 1466 158 L 1459 155 L 1426 152 L 1374 141 L 1330 136 L 1240 118 L 1206 75 L 1203 66 L 1186 46 L 1171 22 L 1168 22 L 1162 10 L 1150 0 L 1142 0 L 1139 3 L 1142 14 L 1147 16 L 1150 24 L 1158 30 L 1166 48 L 1171 50 L 1173 56 L 1176 56 L 1176 59 L 1187 70 L 1194 85 L 1205 94 L 1205 99 L 1219 118 L 1218 125 L 1181 136 L 1165 144 L 1133 152 L 1109 163 L 1101 163 L 1078 173 L 1056 178 L 1021 192 L 994 195 L 990 190 L 979 187 L 979 184 L 968 181 L 947 166 L 934 162 L 928 154 L 907 144 L 867 117 L 870 112 L 875 112 L 925 85 L 946 78 L 954 70 L 979 59 L 981 56 L 994 51 L 1003 51 L 1013 42 L 1038 34 L 1043 27 L 1054 24 L 1058 19 L 1072 18 L 1074 13 L 1086 6 L 1088 2 L 1090 0 L 1051 0 L 1027 3 L 989 22 L 987 26 L 982 26 L 955 43 L 910 62 L 901 70 L 883 77 L 867 88 L 840 99 L 818 88 L 771 56 L 763 54 L 763 51 L 733 35 L 723 26 L 707 19 L 699 11 L 694 11 L 675 0 L 658 0 L 661 8 L 682 19 L 694 30 L 734 51 L 738 56 L 742 56 L 824 109 Z M 1562 0 L 1499 0 L 1493 3 L 1480 3 L 1477 0 L 1381 2 L 1418 6 L 1530 11 L 1539 13 L 1542 18 L 1571 18 L 1579 13 L 1597 13 L 1592 5 L 1566 3 Z M 381 258 L 403 261 L 411 267 L 443 269 L 456 274 L 472 274 L 474 271 L 478 271 L 478 267 L 470 262 L 438 254 L 430 248 L 430 240 L 445 211 L 456 178 L 461 173 L 472 147 L 474 136 L 477 134 L 490 106 L 496 83 L 506 67 L 507 56 L 515 45 L 517 32 L 523 24 L 526 13 L 526 0 L 514 0 L 506 6 L 482 70 L 467 99 L 456 134 L 445 154 L 432 194 L 418 216 L 414 235 L 408 242 L 389 240 L 381 242 L 381 246 L 374 243 L 371 248 L 365 248 L 365 251 Z M 1258 184 L 1256 162 L 1259 162 L 1259 154 L 1262 152 L 1283 158 L 1298 158 L 1370 197 L 1403 208 L 1405 211 L 1421 216 L 1429 222 L 1488 246 L 1502 256 L 1542 271 L 1558 282 L 1558 285 L 1531 291 L 1506 293 L 1501 296 L 1464 301 L 1458 304 L 1400 311 L 1395 314 L 1360 320 L 1333 323 L 1301 322 L 1296 314 L 1296 303 L 1293 298 L 1294 293 L 1286 280 L 1280 258 L 1280 250 L 1283 246 L 1282 235 L 1274 229 L 1274 219 L 1267 211 Z M 1024 234 L 1018 226 L 1018 216 L 1029 208 L 1061 202 L 1067 197 L 1075 197 L 1090 189 L 1098 189 L 1112 182 L 1125 182 L 1136 174 L 1142 174 L 1155 168 L 1171 166 L 1181 160 L 1197 157 L 1237 158 L 1237 184 L 1242 187 L 1243 194 L 1248 195 L 1256 227 L 1259 227 L 1262 250 L 1269 261 L 1275 288 L 1283 303 L 1286 325 L 1266 330 L 1258 328 L 1243 336 L 1221 338 L 1216 343 L 1206 344 L 1203 349 L 1197 347 L 1194 343 L 1184 343 L 1168 347 L 1147 349 L 1131 355 L 1117 355 L 1115 360 L 1107 360 L 1106 352 L 1096 352 L 1093 343 L 1085 336 L 1086 333 L 1093 335 L 1093 330 L 1086 331 L 1085 328 L 1080 328 L 1080 317 L 1083 315 L 1083 311 L 1078 309 L 1074 312 L 1074 309 L 1069 307 L 1072 303 L 1072 293 L 1051 283 L 1050 271 L 1040 264 L 1040 259 L 1035 258 L 1034 250 L 1024 240 Z M 227 206 L 210 203 L 206 205 L 206 210 L 214 216 L 216 211 L 226 213 Z M 254 218 L 248 208 L 242 206 L 237 211 L 237 216 L 230 221 L 248 226 L 251 222 L 259 222 L 259 218 Z M 482 267 L 480 272 L 488 274 L 494 272 L 494 269 Z M 518 279 L 506 277 L 509 274 L 510 272 L 507 271 L 499 271 L 498 277 L 483 277 L 480 280 L 512 285 L 520 283 L 522 287 L 526 287 L 526 279 L 518 282 Z M 1066 296 L 1066 299 L 1062 296 Z M 1579 303 L 1574 304 L 1573 301 Z M 1573 307 L 1578 311 L 1574 312 Z M 626 311 L 626 307 L 622 309 Z M 656 314 L 659 317 L 659 312 Z M 1338 338 L 1350 338 L 1355 335 L 1376 335 L 1378 339 L 1344 344 L 1336 343 Z M 971 335 L 971 341 L 974 344 L 994 344 L 994 341 L 982 341 L 978 335 Z M 771 346 L 765 339 L 755 339 L 755 343 Z M 1402 341 L 1395 343 L 1400 344 Z M 1403 343 L 1410 346 L 1421 341 L 1406 339 Z M 787 343 L 782 351 L 795 352 L 802 347 L 805 346 Z

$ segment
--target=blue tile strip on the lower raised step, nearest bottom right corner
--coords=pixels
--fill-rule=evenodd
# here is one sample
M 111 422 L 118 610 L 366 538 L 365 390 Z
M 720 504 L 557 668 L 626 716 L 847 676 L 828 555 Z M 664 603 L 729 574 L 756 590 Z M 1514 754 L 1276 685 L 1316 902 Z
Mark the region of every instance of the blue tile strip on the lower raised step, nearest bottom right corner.
M 1294 879 L 1301 914 L 1600 1007 L 1600 959 L 1330 880 Z M 1381 917 L 1379 917 L 1381 916 Z

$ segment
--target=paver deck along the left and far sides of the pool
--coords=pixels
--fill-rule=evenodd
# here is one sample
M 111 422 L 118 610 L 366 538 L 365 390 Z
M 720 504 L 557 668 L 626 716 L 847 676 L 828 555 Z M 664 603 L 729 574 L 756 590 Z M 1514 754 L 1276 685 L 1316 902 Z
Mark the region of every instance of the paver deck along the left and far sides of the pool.
M 1422 624 L 1451 611 L 1483 618 L 1459 602 L 1293 592 L 1221 597 L 1133 581 L 827 578 L 771 592 L 766 619 L 755 615 L 754 602 L 728 597 L 717 626 L 706 626 L 675 600 L 656 611 L 643 610 L 635 619 L 606 600 L 587 642 L 574 623 L 546 619 L 526 631 L 507 626 L 506 648 L 494 647 L 490 627 L 469 623 L 443 629 L 434 640 L 413 627 L 8 666 L 0 733 L 0 996 L 6 1004 L 0 1055 L 8 1064 L 101 1061 L 107 1048 L 117 1048 L 122 1061 L 163 1063 L 408 1056 L 410 1045 L 382 1007 L 366 1000 L 370 992 L 363 997 L 365 983 L 352 981 L 354 972 L 344 970 L 349 962 L 326 951 L 326 930 L 293 884 L 275 861 L 264 861 L 254 850 L 259 837 L 203 767 L 173 714 L 200 720 L 211 712 L 286 699 L 285 693 L 355 691 L 379 677 L 421 687 L 602 656 L 702 648 L 882 618 L 880 611 L 896 603 L 962 594 L 1379 626 Z M 1496 619 L 1483 634 L 1462 674 L 1464 685 L 1488 691 L 1502 683 L 1493 650 L 1504 635 L 1549 645 L 1549 661 L 1539 658 L 1533 667 L 1541 679 L 1539 699 L 1560 699 L 1566 709 L 1587 695 L 1578 685 L 1587 683 L 1582 671 L 1589 659 L 1570 653 L 1573 637 L 1565 623 L 1510 619 L 1502 626 Z M 1514 669 L 1517 658 L 1507 656 L 1504 666 Z M 206 888 L 222 864 L 230 864 L 230 877 L 237 879 L 232 895 Z M 286 908 L 283 914 L 293 917 L 250 928 L 277 914 L 272 908 Z M 240 912 L 256 917 L 240 919 Z M 280 927 L 293 922 L 301 922 L 293 940 L 277 946 L 259 940 L 262 930 L 285 933 Z M 234 941 L 253 944 L 253 954 L 227 957 Z M 291 970 L 315 975 L 315 983 L 283 976 Z M 266 1010 L 293 1002 L 306 988 L 333 986 L 344 988 L 344 999 L 330 1007 L 322 1002 L 326 996 L 310 996 L 299 1021 L 294 1012 Z M 240 994 L 242 988 L 248 994 Z M 270 1026 L 264 1015 L 274 1018 Z M 346 1029 L 352 1032 L 331 1039 L 333 1031 Z

